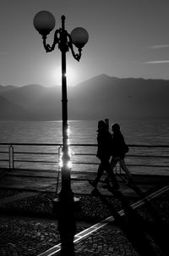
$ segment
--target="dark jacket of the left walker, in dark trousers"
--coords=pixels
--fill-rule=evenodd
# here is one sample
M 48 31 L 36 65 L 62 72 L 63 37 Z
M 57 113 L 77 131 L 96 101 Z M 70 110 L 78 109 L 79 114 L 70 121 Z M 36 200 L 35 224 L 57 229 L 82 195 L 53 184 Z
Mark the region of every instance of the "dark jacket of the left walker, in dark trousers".
M 106 129 L 101 129 L 97 134 L 97 157 L 110 158 L 112 155 L 112 135 Z

